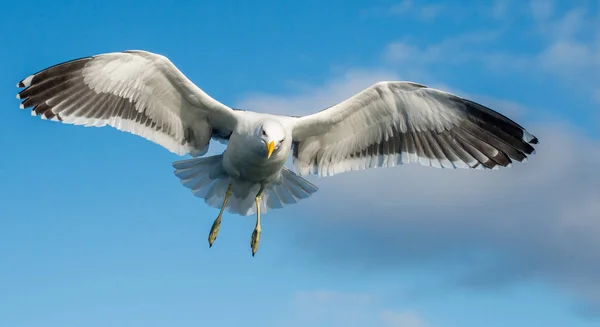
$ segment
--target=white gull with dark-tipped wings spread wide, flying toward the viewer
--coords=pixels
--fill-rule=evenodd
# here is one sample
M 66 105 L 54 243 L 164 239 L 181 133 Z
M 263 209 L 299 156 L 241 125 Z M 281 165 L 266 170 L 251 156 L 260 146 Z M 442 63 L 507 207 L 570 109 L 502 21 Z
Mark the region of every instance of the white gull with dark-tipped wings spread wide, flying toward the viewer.
M 112 126 L 192 158 L 175 175 L 210 207 L 256 214 L 310 197 L 302 176 L 418 163 L 437 168 L 498 169 L 524 162 L 538 139 L 474 101 L 409 81 L 381 81 L 329 108 L 285 116 L 231 108 L 190 81 L 167 57 L 143 50 L 102 53 L 43 69 L 17 84 L 21 109 L 41 119 Z M 204 156 L 211 139 L 226 144 Z M 285 167 L 293 158 L 294 170 Z

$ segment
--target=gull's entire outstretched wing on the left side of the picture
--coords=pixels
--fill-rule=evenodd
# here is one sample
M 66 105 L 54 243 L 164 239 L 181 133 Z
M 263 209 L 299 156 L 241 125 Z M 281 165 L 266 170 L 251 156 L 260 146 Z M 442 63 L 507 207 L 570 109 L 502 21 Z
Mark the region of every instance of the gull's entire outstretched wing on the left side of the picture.
M 235 112 L 204 93 L 166 57 L 146 51 L 105 53 L 64 62 L 17 84 L 32 115 L 85 126 L 110 125 L 169 151 L 205 154 Z

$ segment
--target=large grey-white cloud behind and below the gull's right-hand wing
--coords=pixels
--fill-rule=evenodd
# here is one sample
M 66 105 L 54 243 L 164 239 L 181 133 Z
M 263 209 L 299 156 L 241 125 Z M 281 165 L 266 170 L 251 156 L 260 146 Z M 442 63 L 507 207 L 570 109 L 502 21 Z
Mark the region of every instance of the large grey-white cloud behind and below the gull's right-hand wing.
M 380 70 L 358 72 L 297 94 L 249 97 L 243 104 L 304 114 L 374 81 L 397 77 Z M 467 97 L 513 118 L 527 110 L 510 101 Z M 311 177 L 321 190 L 305 200 L 310 205 L 296 209 L 309 217 L 306 230 L 295 230 L 297 243 L 322 265 L 450 265 L 458 272 L 448 276 L 458 278 L 445 282 L 459 287 L 533 278 L 595 301 L 589 287 L 600 283 L 600 143 L 561 122 L 536 117 L 535 124 L 516 120 L 539 137 L 537 154 L 509 169 L 406 165 Z M 321 208 L 316 216 L 315 207 Z

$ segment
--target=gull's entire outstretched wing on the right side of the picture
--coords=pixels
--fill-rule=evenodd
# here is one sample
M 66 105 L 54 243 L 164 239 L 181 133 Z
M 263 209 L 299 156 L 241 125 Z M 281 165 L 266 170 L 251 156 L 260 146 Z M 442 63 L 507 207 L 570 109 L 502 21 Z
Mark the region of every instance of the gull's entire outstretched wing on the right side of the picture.
M 494 169 L 523 161 L 537 138 L 473 101 L 411 82 L 379 82 L 293 124 L 301 175 L 418 162 Z

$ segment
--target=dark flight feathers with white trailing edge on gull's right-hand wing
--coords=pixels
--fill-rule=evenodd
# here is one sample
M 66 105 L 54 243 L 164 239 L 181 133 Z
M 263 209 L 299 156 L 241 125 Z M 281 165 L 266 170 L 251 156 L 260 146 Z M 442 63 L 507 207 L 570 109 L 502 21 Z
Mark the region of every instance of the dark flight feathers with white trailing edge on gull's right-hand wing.
M 411 86 L 415 90 L 427 88 L 416 83 Z M 461 111 L 463 119 L 457 126 L 438 131 L 400 131 L 397 124 L 379 121 L 381 133 L 377 139 L 349 151 L 342 144 L 319 143 L 317 150 L 309 144 L 324 138 L 296 139 L 292 143 L 294 165 L 301 175 L 321 176 L 413 162 L 437 168 L 498 169 L 510 167 L 514 161 L 526 162 L 535 154 L 532 144 L 538 144 L 538 138 L 510 118 L 471 100 L 445 92 L 439 95 Z M 342 120 L 337 125 L 345 123 Z M 309 149 L 309 155 L 303 156 L 305 149 Z

